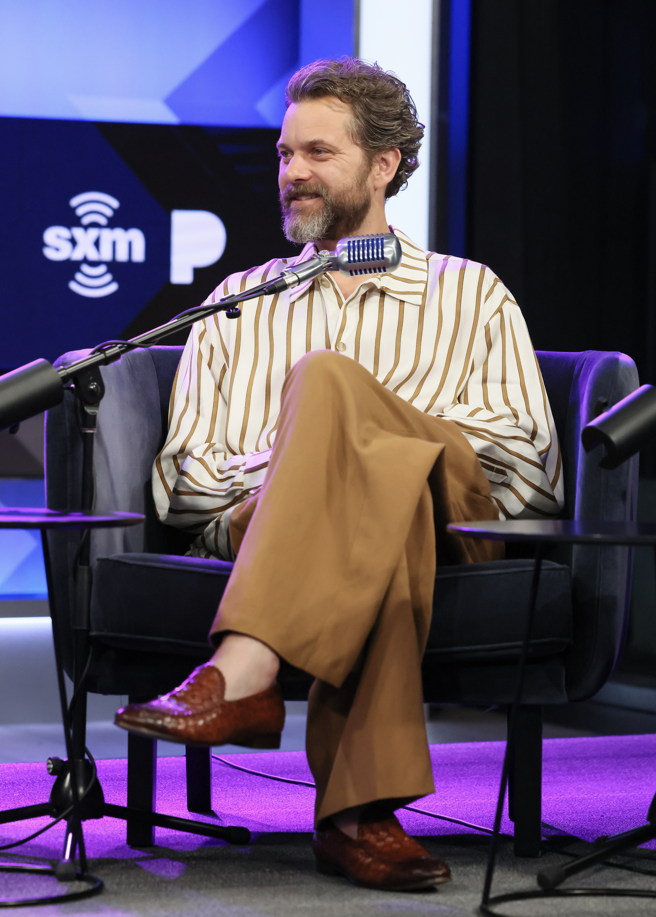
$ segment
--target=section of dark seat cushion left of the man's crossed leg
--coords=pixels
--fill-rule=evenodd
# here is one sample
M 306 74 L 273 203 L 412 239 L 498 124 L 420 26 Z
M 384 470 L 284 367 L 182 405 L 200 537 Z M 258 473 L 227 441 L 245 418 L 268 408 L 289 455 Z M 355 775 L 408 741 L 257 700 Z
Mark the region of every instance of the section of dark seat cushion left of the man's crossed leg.
M 207 635 L 232 569 L 224 560 L 169 554 L 98 558 L 92 636 L 123 649 L 208 654 Z

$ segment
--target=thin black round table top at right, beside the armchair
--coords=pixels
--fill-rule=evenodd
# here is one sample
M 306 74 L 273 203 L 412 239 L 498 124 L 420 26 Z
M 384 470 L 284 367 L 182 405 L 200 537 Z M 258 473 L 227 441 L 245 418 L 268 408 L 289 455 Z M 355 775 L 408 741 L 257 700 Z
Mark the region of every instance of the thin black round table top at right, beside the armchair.
M 654 545 L 656 523 L 594 519 L 506 519 L 451 523 L 454 535 L 486 541 L 569 542 L 580 545 Z

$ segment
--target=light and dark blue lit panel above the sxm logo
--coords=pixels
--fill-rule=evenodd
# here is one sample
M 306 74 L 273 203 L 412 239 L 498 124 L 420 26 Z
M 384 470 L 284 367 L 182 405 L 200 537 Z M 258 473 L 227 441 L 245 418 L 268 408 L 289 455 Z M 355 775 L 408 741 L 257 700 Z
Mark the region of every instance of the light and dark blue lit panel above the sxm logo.
M 297 67 L 352 54 L 354 6 L 0 0 L 0 116 L 279 127 L 284 106 L 258 102 Z

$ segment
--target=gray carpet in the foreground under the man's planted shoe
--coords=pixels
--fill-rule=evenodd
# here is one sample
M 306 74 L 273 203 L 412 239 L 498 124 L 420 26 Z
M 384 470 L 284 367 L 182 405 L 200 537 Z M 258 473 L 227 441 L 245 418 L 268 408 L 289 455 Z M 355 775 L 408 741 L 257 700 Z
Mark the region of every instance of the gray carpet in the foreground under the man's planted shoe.
M 184 914 L 198 917 L 393 917 L 395 914 L 475 914 L 487 856 L 487 840 L 454 835 L 440 841 L 426 838 L 426 846 L 443 856 L 454 880 L 435 891 L 399 893 L 356 889 L 343 878 L 317 875 L 308 834 L 261 834 L 249 847 L 230 847 L 208 840 L 191 852 L 151 847 L 134 858 L 93 861 L 93 871 L 104 878 L 104 892 L 96 898 L 46 908 L 23 908 L 20 913 L 55 917 L 61 914 L 128 915 Z M 516 860 L 511 842 L 501 843 L 493 894 L 536 888 L 538 866 L 562 862 L 555 854 L 541 860 Z M 43 893 L 56 891 L 54 880 L 39 880 Z M 573 884 L 573 883 L 571 883 Z M 591 870 L 580 886 L 651 888 L 656 878 L 644 878 L 616 869 Z M 34 884 L 29 889 L 34 893 Z M 61 888 L 61 887 L 60 887 Z M 0 874 L 0 894 L 20 895 L 25 879 Z M 653 917 L 654 901 L 640 899 L 546 900 L 506 904 L 507 914 L 632 914 Z

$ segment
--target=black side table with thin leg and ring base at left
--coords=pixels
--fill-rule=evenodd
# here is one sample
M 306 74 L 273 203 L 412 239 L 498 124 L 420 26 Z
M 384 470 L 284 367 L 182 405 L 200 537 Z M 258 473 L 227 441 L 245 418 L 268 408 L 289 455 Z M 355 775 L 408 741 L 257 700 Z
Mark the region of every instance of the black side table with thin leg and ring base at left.
M 41 876 L 56 876 L 61 881 L 77 880 L 86 883 L 86 888 L 67 891 L 61 895 L 49 895 L 45 898 L 25 898 L 25 899 L 2 899 L 0 907 L 16 907 L 16 905 L 26 904 L 58 904 L 62 901 L 79 900 L 88 898 L 97 894 L 104 888 L 102 879 L 91 876 L 87 869 L 86 852 L 84 850 L 84 836 L 82 834 L 82 808 L 81 801 L 83 797 L 99 786 L 96 779 L 95 765 L 91 758 L 91 779 L 84 786 L 82 793 L 79 791 L 78 783 L 80 778 L 83 779 L 85 773 L 85 761 L 75 761 L 72 749 L 71 723 L 69 716 L 69 705 L 66 698 L 66 685 L 64 683 L 64 670 L 61 665 L 61 633 L 60 618 L 55 608 L 55 592 L 52 588 L 52 569 L 50 566 L 50 553 L 48 546 L 47 532 L 49 529 L 79 529 L 90 530 L 93 528 L 119 528 L 126 525 L 137 525 L 144 521 L 145 516 L 138 513 L 64 513 L 49 509 L 34 509 L 22 507 L 3 507 L 0 510 L 0 528 L 38 528 L 41 532 L 41 542 L 43 544 L 43 560 L 46 568 L 46 581 L 48 583 L 50 619 L 52 621 L 52 639 L 55 649 L 55 664 L 57 667 L 57 681 L 60 692 L 61 704 L 61 722 L 64 729 L 64 741 L 66 743 L 67 763 L 60 762 L 53 792 L 50 800 L 37 805 L 23 806 L 20 809 L 9 809 L 0 812 L 0 823 L 17 822 L 23 819 L 36 818 L 39 815 L 56 816 L 55 822 L 46 825 L 31 837 L 41 834 L 47 828 L 56 822 L 66 819 L 66 837 L 64 841 L 64 856 L 60 864 L 52 869 L 40 866 L 22 866 L 22 865 L 3 865 L 0 870 L 3 872 L 20 872 L 32 873 Z M 71 779 L 71 770 L 77 773 L 78 779 Z M 82 773 L 78 771 L 82 770 Z M 53 771 L 55 772 L 55 771 Z M 85 781 L 84 781 L 85 782 Z M 59 801 L 59 805 L 55 800 Z M 62 802 L 63 801 L 63 802 Z M 70 802 L 69 802 L 70 801 Z M 6 850 L 24 843 L 18 841 L 14 844 L 7 844 L 0 848 Z M 76 846 L 80 850 L 80 869 L 75 867 Z

